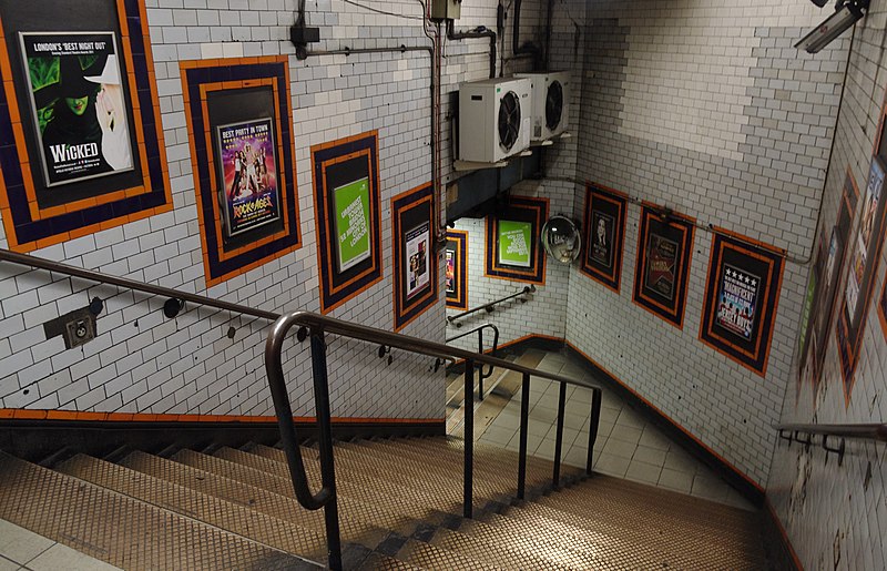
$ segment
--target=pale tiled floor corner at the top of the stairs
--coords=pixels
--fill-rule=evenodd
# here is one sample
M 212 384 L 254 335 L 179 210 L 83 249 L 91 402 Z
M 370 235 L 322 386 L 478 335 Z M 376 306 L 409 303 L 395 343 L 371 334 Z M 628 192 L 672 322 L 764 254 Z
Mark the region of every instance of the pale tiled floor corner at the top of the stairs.
M 0 520 L 0 571 L 113 571 L 118 568 Z

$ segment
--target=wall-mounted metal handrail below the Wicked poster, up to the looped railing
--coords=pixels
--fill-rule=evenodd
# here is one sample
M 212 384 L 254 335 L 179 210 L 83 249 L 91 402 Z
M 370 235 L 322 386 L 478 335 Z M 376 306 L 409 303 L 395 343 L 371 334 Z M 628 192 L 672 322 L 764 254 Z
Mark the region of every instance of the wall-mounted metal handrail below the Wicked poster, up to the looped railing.
M 212 297 L 206 297 L 204 295 L 192 294 L 188 292 L 181 292 L 179 289 L 173 289 L 171 287 L 145 284 L 143 282 L 136 282 L 135 279 L 129 279 L 125 277 L 111 276 L 108 274 L 102 274 L 101 272 L 95 272 L 93 269 L 84 269 L 82 267 L 71 266 L 69 264 L 62 264 L 61 262 L 53 262 L 51 259 L 30 256 L 28 254 L 19 254 L 17 252 L 11 252 L 9 249 L 0 248 L 0 261 L 9 262 L 11 264 L 18 264 L 20 266 L 35 267 L 39 269 L 47 269 L 49 272 L 68 274 L 73 277 L 89 279 L 90 282 L 95 282 L 98 284 L 108 284 L 118 287 L 124 287 L 126 289 L 132 289 L 134 292 L 144 292 L 146 294 L 160 295 L 173 299 L 182 299 L 184 302 L 205 305 L 207 307 L 215 307 L 217 309 L 224 309 L 227 312 L 238 313 L 243 315 L 251 315 L 253 317 L 268 319 L 269 322 L 273 322 L 278 317 L 281 317 L 281 314 L 274 312 L 255 309 L 253 307 L 247 307 L 245 305 L 232 304 L 231 302 L 223 302 L 221 299 L 214 299 Z

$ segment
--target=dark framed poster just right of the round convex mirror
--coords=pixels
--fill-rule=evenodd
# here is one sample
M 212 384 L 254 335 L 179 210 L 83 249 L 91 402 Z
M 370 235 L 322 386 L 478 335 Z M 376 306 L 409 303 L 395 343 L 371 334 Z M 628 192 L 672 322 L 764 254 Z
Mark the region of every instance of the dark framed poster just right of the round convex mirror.
M 585 186 L 585 247 L 579 269 L 615 293 L 622 281 L 626 211 L 624 194 L 597 184 Z

